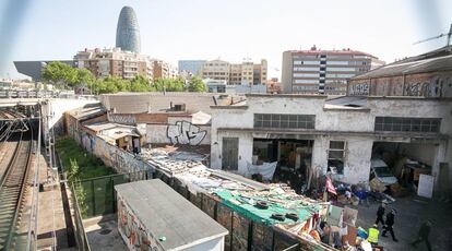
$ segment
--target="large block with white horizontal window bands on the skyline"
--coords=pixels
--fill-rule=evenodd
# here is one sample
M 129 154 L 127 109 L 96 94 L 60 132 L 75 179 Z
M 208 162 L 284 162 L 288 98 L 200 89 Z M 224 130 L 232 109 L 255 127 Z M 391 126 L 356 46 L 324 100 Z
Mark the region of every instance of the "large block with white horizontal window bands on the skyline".
M 377 57 L 350 49 L 283 52 L 283 93 L 345 95 L 347 80 L 383 65 Z

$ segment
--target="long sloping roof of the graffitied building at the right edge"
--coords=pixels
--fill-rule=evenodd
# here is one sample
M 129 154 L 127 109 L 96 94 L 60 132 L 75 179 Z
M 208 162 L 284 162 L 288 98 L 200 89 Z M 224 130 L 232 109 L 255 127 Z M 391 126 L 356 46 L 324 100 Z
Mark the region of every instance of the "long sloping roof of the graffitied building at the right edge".
M 445 46 L 424 55 L 409 57 L 376 70 L 352 77 L 352 80 L 406 75 L 452 70 L 452 46 Z

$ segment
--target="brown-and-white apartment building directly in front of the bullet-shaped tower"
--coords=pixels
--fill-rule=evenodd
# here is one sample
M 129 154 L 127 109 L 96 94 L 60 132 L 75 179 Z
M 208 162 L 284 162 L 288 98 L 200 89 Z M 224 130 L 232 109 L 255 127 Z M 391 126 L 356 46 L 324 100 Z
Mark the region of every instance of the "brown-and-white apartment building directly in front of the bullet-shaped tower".
M 136 75 L 153 77 L 153 69 L 147 56 L 112 49 L 85 49 L 74 56 L 74 65 L 90 70 L 96 77 L 108 75 L 133 79 Z

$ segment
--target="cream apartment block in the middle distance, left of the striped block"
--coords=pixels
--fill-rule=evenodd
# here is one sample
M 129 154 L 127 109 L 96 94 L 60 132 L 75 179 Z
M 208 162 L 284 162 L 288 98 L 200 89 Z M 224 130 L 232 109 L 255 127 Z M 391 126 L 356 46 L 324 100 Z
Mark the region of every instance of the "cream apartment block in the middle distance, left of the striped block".
M 264 85 L 267 77 L 267 63 L 262 59 L 260 63 L 243 61 L 229 63 L 223 60 L 206 61 L 201 68 L 203 79 L 226 81 L 228 85 Z

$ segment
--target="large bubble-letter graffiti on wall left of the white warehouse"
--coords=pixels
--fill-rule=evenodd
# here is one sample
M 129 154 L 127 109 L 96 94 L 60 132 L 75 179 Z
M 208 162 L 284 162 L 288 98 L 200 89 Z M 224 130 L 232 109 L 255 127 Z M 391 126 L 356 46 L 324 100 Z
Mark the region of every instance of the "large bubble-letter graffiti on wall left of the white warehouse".
M 188 121 L 177 121 L 176 124 L 169 124 L 166 130 L 166 135 L 173 144 L 199 145 L 206 134 L 207 131 Z

